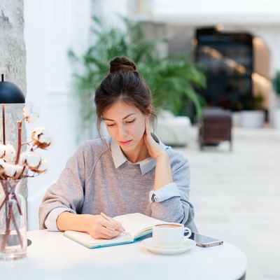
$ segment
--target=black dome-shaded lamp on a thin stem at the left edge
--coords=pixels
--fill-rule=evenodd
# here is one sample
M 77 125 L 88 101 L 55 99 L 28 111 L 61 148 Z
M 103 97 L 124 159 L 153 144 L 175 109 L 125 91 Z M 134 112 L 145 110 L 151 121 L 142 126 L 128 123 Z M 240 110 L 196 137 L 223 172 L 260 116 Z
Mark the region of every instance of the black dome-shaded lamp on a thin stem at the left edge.
M 0 81 L 0 104 L 2 105 L 2 130 L 3 144 L 6 144 L 5 135 L 5 104 L 25 103 L 25 95 L 15 84 L 4 81 L 4 74 L 1 74 Z

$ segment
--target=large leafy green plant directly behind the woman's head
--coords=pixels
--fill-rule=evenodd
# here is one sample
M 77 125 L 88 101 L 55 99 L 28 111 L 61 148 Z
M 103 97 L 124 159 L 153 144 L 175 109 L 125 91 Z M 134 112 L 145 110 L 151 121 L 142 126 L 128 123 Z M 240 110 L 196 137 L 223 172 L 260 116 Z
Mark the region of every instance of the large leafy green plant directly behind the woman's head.
M 94 90 L 109 72 L 109 61 L 116 56 L 127 56 L 136 62 L 139 73 L 151 87 L 156 108 L 182 115 L 186 113 L 186 104 L 191 102 L 197 118 L 200 118 L 203 99 L 195 88 L 206 85 L 202 69 L 190 62 L 186 55 L 162 56 L 158 45 L 167 41 L 147 40 L 139 23 L 126 18 L 123 22 L 123 29 L 107 28 L 99 18 L 94 17 L 91 29 L 96 38 L 94 44 L 82 57 L 69 50 L 69 58 L 75 66 L 73 77 L 80 100 L 82 130 L 91 130 L 95 117 Z

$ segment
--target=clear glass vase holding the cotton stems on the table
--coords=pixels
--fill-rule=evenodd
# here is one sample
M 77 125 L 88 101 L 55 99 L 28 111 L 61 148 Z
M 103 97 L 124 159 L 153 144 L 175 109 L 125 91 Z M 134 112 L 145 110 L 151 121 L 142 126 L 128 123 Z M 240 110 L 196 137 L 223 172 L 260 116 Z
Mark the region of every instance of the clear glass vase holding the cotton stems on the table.
M 17 260 L 27 254 L 27 207 L 18 193 L 22 180 L 0 180 L 0 260 Z

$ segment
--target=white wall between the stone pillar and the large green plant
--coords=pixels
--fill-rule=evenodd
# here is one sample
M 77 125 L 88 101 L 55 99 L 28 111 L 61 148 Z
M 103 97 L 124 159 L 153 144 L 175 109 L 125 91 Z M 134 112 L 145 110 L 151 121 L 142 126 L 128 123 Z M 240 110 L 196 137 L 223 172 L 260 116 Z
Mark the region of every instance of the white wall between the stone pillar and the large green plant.
M 27 48 L 27 102 L 41 109 L 41 118 L 27 124 L 46 127 L 54 139 L 48 151 L 48 172 L 29 179 L 29 230 L 38 228 L 38 206 L 46 188 L 57 180 L 67 158 L 76 149 L 76 101 L 71 95 L 69 47 L 81 53 L 88 45 L 90 0 L 25 0 Z

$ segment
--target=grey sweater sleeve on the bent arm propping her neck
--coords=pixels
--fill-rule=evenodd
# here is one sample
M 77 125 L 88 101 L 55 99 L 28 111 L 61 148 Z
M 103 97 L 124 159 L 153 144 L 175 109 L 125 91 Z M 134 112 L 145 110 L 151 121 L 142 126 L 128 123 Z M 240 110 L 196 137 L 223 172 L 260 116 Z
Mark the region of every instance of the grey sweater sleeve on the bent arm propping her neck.
M 152 202 L 152 216 L 189 225 L 195 216 L 193 204 L 190 203 L 190 165 L 181 155 L 172 162 L 172 177 L 181 197 L 174 195 L 161 202 Z

